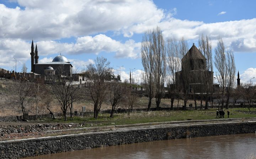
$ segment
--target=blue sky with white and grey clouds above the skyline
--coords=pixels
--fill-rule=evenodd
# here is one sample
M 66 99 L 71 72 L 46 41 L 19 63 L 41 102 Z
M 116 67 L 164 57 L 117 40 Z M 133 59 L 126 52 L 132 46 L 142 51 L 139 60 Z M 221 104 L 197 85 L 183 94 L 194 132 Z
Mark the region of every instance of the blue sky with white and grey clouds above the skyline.
M 133 69 L 141 82 L 142 37 L 159 26 L 165 40 L 183 36 L 189 48 L 208 35 L 213 57 L 221 37 L 246 83 L 256 77 L 255 6 L 255 0 L 0 0 L 0 68 L 15 70 L 17 61 L 17 72 L 24 63 L 31 70 L 33 38 L 39 63 L 61 53 L 80 72 L 102 56 L 121 80 Z

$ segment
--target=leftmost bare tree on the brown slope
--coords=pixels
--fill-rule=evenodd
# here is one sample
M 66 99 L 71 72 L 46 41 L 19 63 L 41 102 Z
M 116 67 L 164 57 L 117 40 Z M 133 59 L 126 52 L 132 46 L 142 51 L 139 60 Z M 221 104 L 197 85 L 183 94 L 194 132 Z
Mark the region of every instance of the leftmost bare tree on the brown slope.
M 16 80 L 13 86 L 15 98 L 13 98 L 12 102 L 21 106 L 23 120 L 26 120 L 26 106 L 32 95 L 32 84 L 30 82 Z

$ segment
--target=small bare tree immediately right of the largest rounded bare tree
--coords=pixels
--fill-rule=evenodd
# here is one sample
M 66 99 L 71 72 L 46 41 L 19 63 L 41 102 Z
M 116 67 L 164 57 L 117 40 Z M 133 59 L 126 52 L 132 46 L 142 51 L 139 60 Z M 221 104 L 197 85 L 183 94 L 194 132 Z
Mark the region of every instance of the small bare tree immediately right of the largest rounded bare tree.
M 126 92 L 126 86 L 116 82 L 110 83 L 109 99 L 112 106 L 110 117 L 114 117 L 114 110 L 117 104 L 126 98 Z

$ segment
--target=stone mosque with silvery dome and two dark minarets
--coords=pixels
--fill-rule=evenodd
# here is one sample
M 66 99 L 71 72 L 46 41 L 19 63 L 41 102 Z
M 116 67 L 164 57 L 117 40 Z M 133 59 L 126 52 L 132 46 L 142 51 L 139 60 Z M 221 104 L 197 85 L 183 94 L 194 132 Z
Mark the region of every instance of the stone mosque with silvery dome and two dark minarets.
M 54 57 L 52 62 L 46 62 L 38 64 L 38 50 L 37 45 L 34 50 L 34 43 L 32 40 L 31 44 L 31 72 L 39 75 L 64 75 L 72 76 L 72 65 L 68 59 L 63 55 L 58 55 Z

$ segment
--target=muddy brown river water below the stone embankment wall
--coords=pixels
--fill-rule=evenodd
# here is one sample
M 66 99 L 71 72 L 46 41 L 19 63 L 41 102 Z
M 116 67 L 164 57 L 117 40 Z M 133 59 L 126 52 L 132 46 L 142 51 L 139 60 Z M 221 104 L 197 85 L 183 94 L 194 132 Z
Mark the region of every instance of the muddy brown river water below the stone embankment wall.
M 173 139 L 41 155 L 26 159 L 254 159 L 256 134 Z

